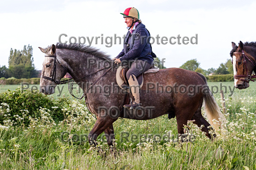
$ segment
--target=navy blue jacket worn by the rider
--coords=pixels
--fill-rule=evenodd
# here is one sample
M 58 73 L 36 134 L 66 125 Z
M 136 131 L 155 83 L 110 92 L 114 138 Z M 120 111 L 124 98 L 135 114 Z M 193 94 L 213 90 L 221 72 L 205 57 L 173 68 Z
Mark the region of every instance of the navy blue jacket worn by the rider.
M 131 34 L 130 31 L 126 34 L 124 38 L 124 48 L 117 55 L 116 58 L 123 60 L 142 60 L 147 61 L 149 64 L 153 63 L 153 57 L 151 56 L 151 47 L 149 44 L 150 36 L 145 28 L 145 25 L 139 23 L 136 25 L 136 29 Z

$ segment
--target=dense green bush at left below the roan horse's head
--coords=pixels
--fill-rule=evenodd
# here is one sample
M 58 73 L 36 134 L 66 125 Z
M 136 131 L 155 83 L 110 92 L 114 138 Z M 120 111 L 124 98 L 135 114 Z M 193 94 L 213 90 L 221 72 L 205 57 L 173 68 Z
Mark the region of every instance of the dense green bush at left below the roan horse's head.
M 52 97 L 39 93 L 38 90 L 22 90 L 20 87 L 18 87 L 15 91 L 7 90 L 6 92 L 1 93 L 0 103 L 7 103 L 10 109 L 8 112 L 9 115 L 0 116 L 0 124 L 7 119 L 15 120 L 15 115 L 23 117 L 24 110 L 27 110 L 29 113 L 26 114 L 26 117 L 24 117 L 24 124 L 28 126 L 29 116 L 32 118 L 38 117 L 40 115 L 40 107 L 49 109 L 51 111 L 54 110 L 51 117 L 55 122 L 62 121 L 64 116 L 61 109 L 63 106 L 68 106 L 71 101 L 64 97 L 55 100 Z M 52 107 L 57 108 L 53 109 Z

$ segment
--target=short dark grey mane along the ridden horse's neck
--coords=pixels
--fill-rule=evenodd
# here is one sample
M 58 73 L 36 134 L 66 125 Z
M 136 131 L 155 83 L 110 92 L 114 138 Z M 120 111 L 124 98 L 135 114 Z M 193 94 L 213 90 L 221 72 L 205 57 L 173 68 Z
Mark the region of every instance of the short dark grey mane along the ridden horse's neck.
M 51 47 L 52 46 L 46 47 L 45 52 L 47 53 L 48 51 L 50 51 Z M 82 45 L 78 43 L 74 43 L 74 44 L 56 43 L 56 48 L 81 51 L 81 52 L 85 52 L 87 54 L 93 55 L 95 57 L 102 58 L 104 60 L 111 60 L 110 56 L 107 55 L 106 52 L 102 52 L 95 47 L 88 47 L 87 45 Z

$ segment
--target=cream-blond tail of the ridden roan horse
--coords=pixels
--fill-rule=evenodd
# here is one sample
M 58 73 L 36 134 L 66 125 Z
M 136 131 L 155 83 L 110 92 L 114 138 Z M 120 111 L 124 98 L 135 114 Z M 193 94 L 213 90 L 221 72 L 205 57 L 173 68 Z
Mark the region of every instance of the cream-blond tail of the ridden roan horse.
M 207 84 L 205 76 L 203 76 L 200 73 L 198 73 L 198 75 Z M 205 108 L 207 118 L 209 119 L 209 123 L 211 124 L 211 126 L 215 128 L 215 130 L 217 130 L 219 127 L 222 128 L 221 124 L 226 122 L 226 118 L 220 111 L 220 108 L 217 102 L 215 101 L 215 98 L 213 97 L 213 94 L 211 93 L 211 90 L 209 89 L 208 85 L 207 88 L 207 93 L 205 93 L 203 97 L 203 106 Z M 213 123 L 213 119 L 219 121 L 219 123 Z

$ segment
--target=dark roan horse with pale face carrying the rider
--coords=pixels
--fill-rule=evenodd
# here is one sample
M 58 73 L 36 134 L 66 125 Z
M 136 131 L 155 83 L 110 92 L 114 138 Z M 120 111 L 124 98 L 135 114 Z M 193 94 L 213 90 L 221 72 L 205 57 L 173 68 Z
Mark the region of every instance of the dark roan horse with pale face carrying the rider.
M 64 83 L 60 80 L 67 72 L 83 89 L 87 108 L 97 117 L 88 135 L 91 145 L 97 145 L 95 141 L 104 131 L 109 147 L 113 146 L 113 123 L 118 118 L 147 120 L 168 114 L 169 119 L 176 116 L 178 134 L 184 134 L 184 125 L 194 120 L 210 139 L 214 138 L 209 133 L 214 130 L 212 120 L 225 119 L 206 78 L 198 72 L 169 68 L 144 74 L 144 85 L 140 88 L 142 106 L 129 110 L 123 108 L 126 92 L 117 85 L 117 65 L 109 55 L 77 43 L 39 48 L 45 53 L 40 80 L 42 93 L 53 94 L 56 85 Z M 106 87 L 110 90 L 102 92 Z M 203 101 L 211 124 L 202 116 Z

